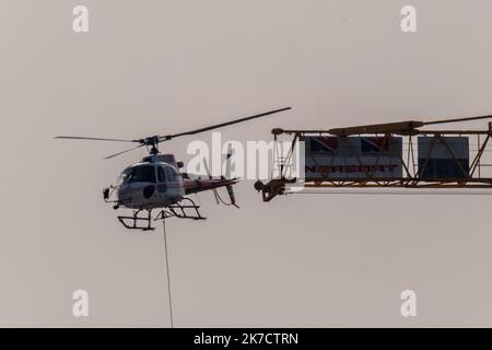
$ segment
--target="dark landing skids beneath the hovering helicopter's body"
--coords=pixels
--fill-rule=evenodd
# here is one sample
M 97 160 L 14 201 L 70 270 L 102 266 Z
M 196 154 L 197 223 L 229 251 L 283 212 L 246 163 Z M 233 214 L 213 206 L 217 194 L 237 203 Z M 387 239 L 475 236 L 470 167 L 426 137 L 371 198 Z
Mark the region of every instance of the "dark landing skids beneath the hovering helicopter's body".
M 191 220 L 206 220 L 198 209 L 197 206 L 190 198 L 184 198 L 183 201 L 186 203 L 173 203 L 166 208 L 163 208 L 155 218 L 152 218 L 152 209 L 145 209 L 148 214 L 145 217 L 139 217 L 139 213 L 144 210 L 134 210 L 131 217 L 119 215 L 118 221 L 126 228 L 130 230 L 142 230 L 142 231 L 153 231 L 152 221 L 166 220 L 168 218 L 178 219 L 191 219 Z M 183 202 L 181 201 L 181 202 Z M 139 225 L 139 223 L 144 223 Z

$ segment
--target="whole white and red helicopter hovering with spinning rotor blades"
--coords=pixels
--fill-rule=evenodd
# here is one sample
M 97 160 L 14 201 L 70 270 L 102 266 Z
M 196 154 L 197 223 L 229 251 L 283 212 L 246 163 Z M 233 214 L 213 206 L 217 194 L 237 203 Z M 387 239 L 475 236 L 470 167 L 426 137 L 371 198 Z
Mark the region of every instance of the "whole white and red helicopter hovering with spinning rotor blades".
M 106 160 L 145 147 L 149 155 L 144 156 L 139 163 L 127 166 L 118 176 L 116 185 L 105 187 L 103 189 L 103 199 L 105 202 L 113 203 L 115 210 L 119 208 L 132 210 L 131 215 L 117 217 L 118 221 L 126 229 L 150 231 L 155 229 L 152 226 L 152 221 L 165 220 L 167 218 L 174 217 L 192 220 L 207 219 L 201 215 L 199 211 L 200 206 L 189 197 L 189 195 L 192 194 L 212 190 L 218 205 L 222 202 L 225 206 L 238 208 L 233 190 L 233 185 L 237 184 L 238 179 L 230 178 L 231 145 L 226 155 L 225 176 L 212 177 L 208 170 L 207 162 L 203 160 L 208 178 L 202 178 L 199 175 L 180 172 L 179 170 L 184 167 L 184 163 L 176 161 L 174 154 L 162 154 L 159 150 L 159 144 L 161 142 L 244 122 L 288 109 L 291 109 L 291 107 L 269 110 L 195 130 L 166 136 L 156 135 L 142 139 L 125 140 L 84 136 L 57 136 L 55 139 L 138 143 L 136 147 L 106 156 Z M 229 202 L 224 201 L 218 194 L 216 189 L 221 187 L 226 188 L 230 198 Z M 155 217 L 152 217 L 153 210 L 159 210 L 159 213 Z M 143 215 L 141 213 L 143 213 Z

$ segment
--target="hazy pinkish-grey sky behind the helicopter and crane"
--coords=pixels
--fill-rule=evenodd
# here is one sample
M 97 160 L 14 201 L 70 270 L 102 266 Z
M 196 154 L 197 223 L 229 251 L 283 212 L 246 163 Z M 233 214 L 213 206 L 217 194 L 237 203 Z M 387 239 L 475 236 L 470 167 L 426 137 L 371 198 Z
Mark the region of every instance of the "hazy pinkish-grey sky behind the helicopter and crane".
M 90 32 L 72 31 L 72 9 Z M 418 32 L 400 31 L 413 4 Z M 492 113 L 490 1 L 3 0 L 0 326 L 167 327 L 163 235 L 121 228 L 101 189 L 140 138 L 270 108 L 224 129 L 331 128 Z M 485 128 L 485 122 L 475 124 Z M 210 135 L 200 137 L 210 141 Z M 166 143 L 188 160 L 194 139 Z M 175 326 L 492 326 L 492 197 L 199 196 L 167 223 Z M 72 315 L 72 292 L 90 317 Z M 401 291 L 418 317 L 400 315 Z

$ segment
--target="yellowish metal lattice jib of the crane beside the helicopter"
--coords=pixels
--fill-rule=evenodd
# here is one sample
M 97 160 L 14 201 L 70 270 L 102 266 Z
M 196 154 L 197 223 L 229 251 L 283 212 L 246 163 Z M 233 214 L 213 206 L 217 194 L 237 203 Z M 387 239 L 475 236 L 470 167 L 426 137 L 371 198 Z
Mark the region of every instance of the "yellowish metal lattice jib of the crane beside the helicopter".
M 272 133 L 274 140 L 281 135 L 293 136 L 292 147 L 288 154 L 277 155 L 274 158 L 274 166 L 278 170 L 280 176 L 270 179 L 263 184 L 257 182 L 255 188 L 261 191 L 263 201 L 270 201 L 278 195 L 284 195 L 289 192 L 289 186 L 296 184 L 298 178 L 290 176 L 291 167 L 293 166 L 292 158 L 294 153 L 295 144 L 303 140 L 305 137 L 335 137 L 340 143 L 345 142 L 349 137 L 377 137 L 384 138 L 384 142 L 389 142 L 391 139 L 398 137 L 402 138 L 405 147 L 401 152 L 395 152 L 391 154 L 394 158 L 398 158 L 399 164 L 402 166 L 402 176 L 375 176 L 374 166 L 367 166 L 364 162 L 358 158 L 356 153 L 351 153 L 352 159 L 358 160 L 359 170 L 364 172 L 363 176 L 340 178 L 340 176 L 330 176 L 330 173 L 321 174 L 320 176 L 307 176 L 303 179 L 302 186 L 305 188 L 482 188 L 492 189 L 492 174 L 489 174 L 492 168 L 492 160 L 487 160 L 487 152 L 491 152 L 488 145 L 491 143 L 492 137 L 492 122 L 489 122 L 489 127 L 485 130 L 422 130 L 420 129 L 426 125 L 433 124 L 450 124 L 458 121 L 469 121 L 477 119 L 492 118 L 492 116 L 480 116 L 471 118 L 459 119 L 445 119 L 436 121 L 401 121 L 390 124 L 367 125 L 349 128 L 337 128 L 329 130 L 283 130 L 273 129 Z M 420 162 L 417 162 L 417 138 L 430 137 L 431 143 L 426 150 L 425 156 L 420 154 Z M 448 137 L 461 137 L 468 138 L 470 144 L 469 148 L 469 164 L 465 168 L 461 162 L 456 156 L 456 151 L 447 143 Z M 277 143 L 277 142 L 276 142 Z M 431 154 L 434 149 L 441 148 L 448 152 L 449 159 L 454 160 L 453 166 L 458 170 L 457 176 L 453 177 L 435 177 L 427 176 L 426 170 L 431 160 Z M 349 150 L 350 151 L 350 150 Z M 335 151 L 337 152 L 337 151 Z M 384 152 L 382 152 L 384 154 Z M 386 154 L 387 155 L 387 154 Z M 491 154 L 492 155 L 492 154 Z M 276 156 L 276 155 L 274 155 Z M 335 159 L 335 153 L 332 158 Z M 375 159 L 377 165 L 378 156 Z M 355 166 L 356 166 L 355 165 Z M 353 166 L 353 165 L 352 165 Z M 489 171 L 489 172 L 488 172 Z M 298 183 L 297 183 L 298 184 Z

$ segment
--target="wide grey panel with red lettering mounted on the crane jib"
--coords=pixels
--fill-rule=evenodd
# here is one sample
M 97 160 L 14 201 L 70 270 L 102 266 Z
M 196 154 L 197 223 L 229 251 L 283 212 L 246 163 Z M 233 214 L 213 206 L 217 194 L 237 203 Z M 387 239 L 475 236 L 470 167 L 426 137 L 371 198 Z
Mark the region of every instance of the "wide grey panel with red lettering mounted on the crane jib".
M 301 138 L 305 178 L 364 179 L 402 176 L 401 137 Z

